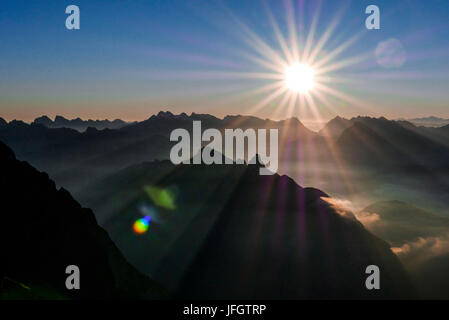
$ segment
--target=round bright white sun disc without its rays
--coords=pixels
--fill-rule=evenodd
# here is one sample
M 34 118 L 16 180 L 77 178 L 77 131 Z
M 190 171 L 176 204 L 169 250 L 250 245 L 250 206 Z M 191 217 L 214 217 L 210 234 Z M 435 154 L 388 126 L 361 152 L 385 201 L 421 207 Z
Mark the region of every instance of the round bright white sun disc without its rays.
M 315 86 L 315 70 L 304 63 L 293 63 L 285 69 L 285 86 L 293 92 L 308 93 Z

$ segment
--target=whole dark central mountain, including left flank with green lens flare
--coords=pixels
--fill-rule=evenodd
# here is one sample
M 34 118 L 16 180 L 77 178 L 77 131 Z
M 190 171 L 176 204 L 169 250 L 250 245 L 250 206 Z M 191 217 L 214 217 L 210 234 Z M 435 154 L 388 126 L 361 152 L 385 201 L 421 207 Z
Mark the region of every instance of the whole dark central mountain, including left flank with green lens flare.
M 79 194 L 140 271 L 180 298 L 410 297 L 406 272 L 383 241 L 340 216 L 317 189 L 258 165 L 132 166 Z M 129 226 L 150 214 L 148 234 Z M 364 267 L 386 274 L 360 286 Z

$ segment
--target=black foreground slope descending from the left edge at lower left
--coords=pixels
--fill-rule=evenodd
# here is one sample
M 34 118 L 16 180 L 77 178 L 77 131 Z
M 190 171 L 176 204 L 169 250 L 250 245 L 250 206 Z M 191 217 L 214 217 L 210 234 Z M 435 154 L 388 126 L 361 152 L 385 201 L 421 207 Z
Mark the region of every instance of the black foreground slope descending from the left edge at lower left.
M 1 298 L 166 296 L 125 260 L 91 210 L 1 142 L 0 197 Z M 80 290 L 65 287 L 68 265 L 80 268 Z

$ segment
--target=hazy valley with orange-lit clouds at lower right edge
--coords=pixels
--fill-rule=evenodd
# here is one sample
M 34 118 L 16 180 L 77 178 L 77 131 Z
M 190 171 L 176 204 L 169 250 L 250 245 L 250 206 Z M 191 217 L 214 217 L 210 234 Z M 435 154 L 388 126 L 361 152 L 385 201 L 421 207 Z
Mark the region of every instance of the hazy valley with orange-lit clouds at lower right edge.
M 402 201 L 381 201 L 357 217 L 392 246 L 421 295 L 449 298 L 449 219 Z

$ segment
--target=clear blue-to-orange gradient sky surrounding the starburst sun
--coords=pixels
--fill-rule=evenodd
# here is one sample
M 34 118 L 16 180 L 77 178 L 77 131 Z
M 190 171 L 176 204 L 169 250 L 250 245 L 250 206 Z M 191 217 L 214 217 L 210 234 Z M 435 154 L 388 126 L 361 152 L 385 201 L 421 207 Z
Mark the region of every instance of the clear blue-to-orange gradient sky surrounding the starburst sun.
M 332 72 L 345 81 L 327 85 L 363 105 L 329 96 L 332 110 L 319 102 L 311 110 L 298 101 L 287 111 L 279 110 L 279 97 L 253 111 L 269 93 L 248 93 L 272 80 L 240 76 L 267 72 L 248 57 L 258 53 L 242 25 L 281 53 L 266 8 L 288 38 L 289 1 L 2 0 L 0 117 L 142 120 L 170 110 L 309 121 L 337 114 L 449 118 L 449 1 L 328 0 L 321 9 L 319 1 L 291 2 L 304 38 L 318 12 L 315 40 L 343 13 L 320 55 L 361 34 L 334 61 L 363 60 Z M 70 4 L 80 7 L 80 30 L 65 28 Z M 369 4 L 381 9 L 380 30 L 365 28 Z M 402 43 L 407 59 L 385 68 L 375 50 L 391 38 Z

